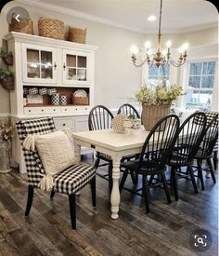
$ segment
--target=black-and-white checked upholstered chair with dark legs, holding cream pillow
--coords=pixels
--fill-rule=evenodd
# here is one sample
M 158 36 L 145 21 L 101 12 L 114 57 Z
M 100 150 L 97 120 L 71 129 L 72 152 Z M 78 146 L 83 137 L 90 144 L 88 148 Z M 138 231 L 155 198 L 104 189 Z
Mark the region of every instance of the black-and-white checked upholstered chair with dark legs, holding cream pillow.
M 29 135 L 45 135 L 55 132 L 56 128 L 52 117 L 19 120 L 16 126 L 28 175 L 28 199 L 25 211 L 25 216 L 28 216 L 32 208 L 34 188 L 38 188 L 39 183 L 45 177 L 45 168 L 37 150 L 25 149 L 23 142 Z M 74 164 L 53 177 L 50 197 L 52 199 L 55 192 L 69 196 L 72 229 L 76 229 L 75 193 L 79 192 L 87 183 L 91 184 L 93 207 L 96 207 L 96 169 L 93 166 L 84 163 Z

